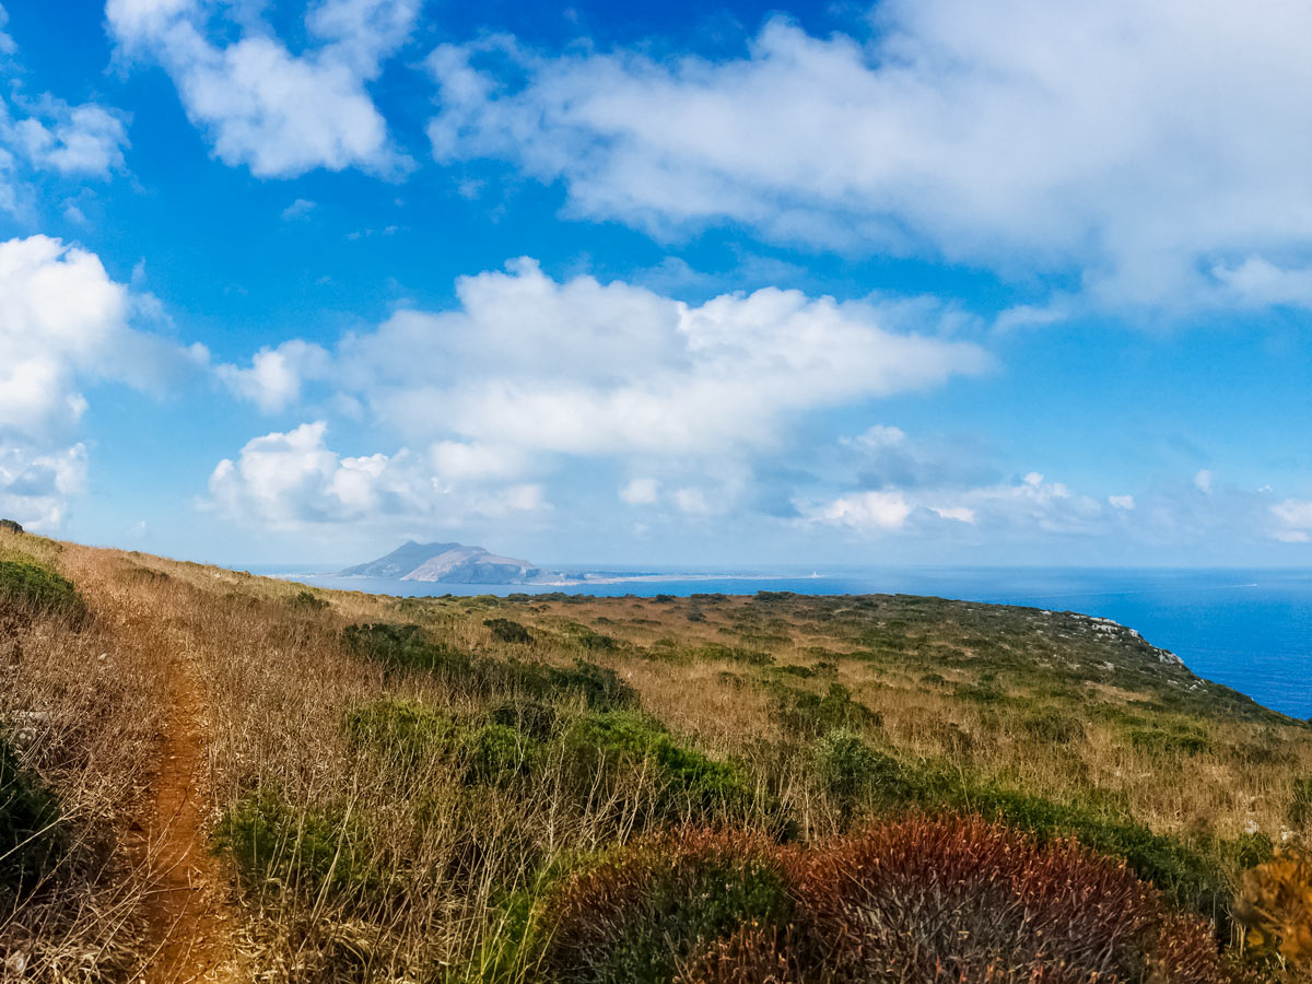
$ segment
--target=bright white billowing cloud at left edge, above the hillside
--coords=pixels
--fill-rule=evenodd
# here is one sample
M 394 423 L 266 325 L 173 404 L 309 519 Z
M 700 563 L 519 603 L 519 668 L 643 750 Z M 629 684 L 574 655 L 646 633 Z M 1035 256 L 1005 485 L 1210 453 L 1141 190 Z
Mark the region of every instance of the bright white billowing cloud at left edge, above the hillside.
M 203 363 L 203 349 L 134 328 L 138 307 L 94 253 L 49 236 L 0 243 L 0 506 L 20 522 L 58 526 L 83 488 L 87 453 L 68 441 L 88 384 L 160 390 Z

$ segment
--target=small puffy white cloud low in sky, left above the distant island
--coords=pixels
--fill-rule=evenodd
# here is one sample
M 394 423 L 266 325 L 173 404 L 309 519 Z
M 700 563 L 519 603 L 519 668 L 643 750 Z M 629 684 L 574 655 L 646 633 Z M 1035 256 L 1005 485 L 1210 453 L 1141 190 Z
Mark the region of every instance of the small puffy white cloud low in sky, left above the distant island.
M 531 483 L 461 496 L 432 467 L 401 449 L 345 457 L 328 447 L 324 421 L 256 437 L 210 475 L 209 504 L 240 522 L 297 530 L 315 525 L 426 518 L 457 525 L 470 516 L 504 517 L 550 508 Z

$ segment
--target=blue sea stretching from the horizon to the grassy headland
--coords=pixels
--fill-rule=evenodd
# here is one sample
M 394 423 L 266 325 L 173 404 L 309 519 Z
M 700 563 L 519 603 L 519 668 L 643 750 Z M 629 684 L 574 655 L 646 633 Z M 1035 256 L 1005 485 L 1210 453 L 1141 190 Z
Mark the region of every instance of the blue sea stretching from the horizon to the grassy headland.
M 274 571 L 266 571 L 274 573 Z M 293 576 L 287 569 L 281 576 Z M 904 593 L 1081 611 L 1136 628 L 1200 677 L 1295 718 L 1312 718 L 1312 571 L 1075 568 L 833 568 L 687 573 L 585 585 L 454 585 L 295 573 L 323 588 L 378 594 Z

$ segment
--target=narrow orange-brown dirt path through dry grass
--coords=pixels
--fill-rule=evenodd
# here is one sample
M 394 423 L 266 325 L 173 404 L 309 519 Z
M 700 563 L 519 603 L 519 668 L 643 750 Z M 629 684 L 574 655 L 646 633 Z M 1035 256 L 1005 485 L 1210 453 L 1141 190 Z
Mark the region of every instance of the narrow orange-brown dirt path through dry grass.
M 156 871 L 147 903 L 143 984 L 240 980 L 232 916 L 223 904 L 223 872 L 205 832 L 205 733 L 201 693 L 185 656 L 169 665 L 173 710 L 160 743 L 155 810 L 147 830 Z

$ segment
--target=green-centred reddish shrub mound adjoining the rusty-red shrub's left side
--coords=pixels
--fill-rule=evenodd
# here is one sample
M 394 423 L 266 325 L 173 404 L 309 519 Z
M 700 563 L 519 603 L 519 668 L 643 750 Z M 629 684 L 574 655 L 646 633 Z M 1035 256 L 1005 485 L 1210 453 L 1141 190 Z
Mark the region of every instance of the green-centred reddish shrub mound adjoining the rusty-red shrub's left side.
M 550 899 L 542 959 L 560 984 L 668 984 L 743 925 L 790 916 L 783 865 L 750 834 L 684 829 L 604 855 Z

